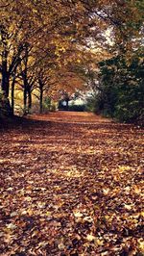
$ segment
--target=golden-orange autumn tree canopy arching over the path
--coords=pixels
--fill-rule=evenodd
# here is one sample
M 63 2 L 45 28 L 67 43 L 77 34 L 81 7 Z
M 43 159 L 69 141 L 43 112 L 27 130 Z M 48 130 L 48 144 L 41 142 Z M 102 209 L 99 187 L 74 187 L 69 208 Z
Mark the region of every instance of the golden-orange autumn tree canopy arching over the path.
M 31 109 L 41 77 L 42 88 L 56 92 L 54 85 L 67 87 L 65 77 L 68 81 L 71 73 L 75 90 L 82 66 L 87 70 L 115 55 L 131 62 L 142 43 L 143 5 L 138 0 L 0 0 L 0 14 L 1 90 L 12 98 L 12 113 L 17 85 L 24 111 Z

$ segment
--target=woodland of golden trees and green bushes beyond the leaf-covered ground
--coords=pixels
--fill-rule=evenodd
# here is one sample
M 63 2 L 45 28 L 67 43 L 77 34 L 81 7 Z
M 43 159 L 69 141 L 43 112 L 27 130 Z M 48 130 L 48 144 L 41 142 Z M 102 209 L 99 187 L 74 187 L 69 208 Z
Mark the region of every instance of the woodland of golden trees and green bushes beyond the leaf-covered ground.
M 85 110 L 141 123 L 143 13 L 141 0 L 0 0 L 0 115 L 83 93 Z

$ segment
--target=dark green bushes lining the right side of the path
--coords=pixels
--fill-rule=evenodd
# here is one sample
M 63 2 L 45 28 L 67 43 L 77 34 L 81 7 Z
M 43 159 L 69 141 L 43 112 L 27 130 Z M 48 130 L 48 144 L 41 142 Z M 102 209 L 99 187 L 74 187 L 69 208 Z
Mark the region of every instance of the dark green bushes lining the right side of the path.
M 131 64 L 121 56 L 101 63 L 101 90 L 93 102 L 94 112 L 122 122 L 143 122 L 143 68 L 141 56 L 133 58 Z

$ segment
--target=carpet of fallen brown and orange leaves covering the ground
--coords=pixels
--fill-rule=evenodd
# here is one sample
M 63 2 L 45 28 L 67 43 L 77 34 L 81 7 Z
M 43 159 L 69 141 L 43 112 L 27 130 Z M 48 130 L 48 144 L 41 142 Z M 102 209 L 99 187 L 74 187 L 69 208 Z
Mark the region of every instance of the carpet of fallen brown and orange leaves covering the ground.
M 143 255 L 142 128 L 65 112 L 0 127 L 0 255 Z

